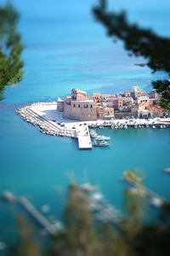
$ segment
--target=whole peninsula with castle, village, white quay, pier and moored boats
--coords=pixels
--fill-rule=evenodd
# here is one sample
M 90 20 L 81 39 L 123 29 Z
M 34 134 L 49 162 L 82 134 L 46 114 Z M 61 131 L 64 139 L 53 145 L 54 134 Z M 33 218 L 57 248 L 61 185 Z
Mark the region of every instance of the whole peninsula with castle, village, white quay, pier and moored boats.
M 155 90 L 147 96 L 136 85 L 132 91 L 116 95 L 87 96 L 87 92 L 71 88 L 70 96 L 56 102 L 35 102 L 15 113 L 38 125 L 44 134 L 77 138 L 79 149 L 92 149 L 111 144 L 111 137 L 98 134 L 94 128 L 169 128 L 170 110 L 161 108 L 159 97 Z

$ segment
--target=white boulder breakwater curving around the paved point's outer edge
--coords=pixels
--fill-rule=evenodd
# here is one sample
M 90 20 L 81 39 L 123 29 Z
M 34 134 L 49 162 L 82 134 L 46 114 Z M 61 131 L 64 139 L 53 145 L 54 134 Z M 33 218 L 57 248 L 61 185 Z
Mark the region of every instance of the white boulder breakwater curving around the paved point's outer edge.
M 76 131 L 71 129 L 66 129 L 65 127 L 60 127 L 60 125 L 53 124 L 53 122 L 44 119 L 41 115 L 34 112 L 31 108 L 35 106 L 44 106 L 44 105 L 54 105 L 56 102 L 36 102 L 32 103 L 29 106 L 24 108 L 19 108 L 15 110 L 15 113 L 19 114 L 26 122 L 31 123 L 32 125 L 38 125 L 42 133 L 60 136 L 60 137 L 73 137 L 76 138 Z

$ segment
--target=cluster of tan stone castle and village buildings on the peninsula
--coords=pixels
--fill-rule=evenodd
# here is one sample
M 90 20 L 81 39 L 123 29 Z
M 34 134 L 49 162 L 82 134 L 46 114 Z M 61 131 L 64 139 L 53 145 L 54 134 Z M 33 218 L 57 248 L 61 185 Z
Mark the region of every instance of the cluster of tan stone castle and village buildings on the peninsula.
M 71 96 L 58 98 L 57 111 L 63 112 L 65 119 L 90 121 L 97 119 L 119 119 L 126 116 L 150 118 L 169 116 L 170 110 L 164 110 L 158 103 L 159 96 L 155 90 L 147 96 L 145 90 L 133 86 L 117 95 L 94 93 L 87 96 L 82 90 L 71 89 Z

